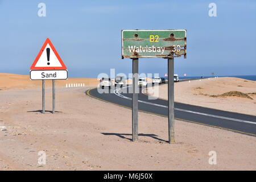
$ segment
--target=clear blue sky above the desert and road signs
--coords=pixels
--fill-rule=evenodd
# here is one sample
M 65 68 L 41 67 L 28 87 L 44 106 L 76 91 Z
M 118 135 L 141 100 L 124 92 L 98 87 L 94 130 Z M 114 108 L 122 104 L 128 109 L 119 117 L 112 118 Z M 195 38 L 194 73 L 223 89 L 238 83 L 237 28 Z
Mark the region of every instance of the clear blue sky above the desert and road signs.
M 38 4 L 46 4 L 46 17 Z M 208 15 L 209 3 L 217 16 Z M 121 59 L 121 30 L 187 29 L 180 76 L 256 75 L 256 1 L 4 1 L 0 0 L 0 72 L 28 75 L 46 38 L 69 77 L 131 73 Z M 139 59 L 140 73 L 167 72 L 165 59 Z

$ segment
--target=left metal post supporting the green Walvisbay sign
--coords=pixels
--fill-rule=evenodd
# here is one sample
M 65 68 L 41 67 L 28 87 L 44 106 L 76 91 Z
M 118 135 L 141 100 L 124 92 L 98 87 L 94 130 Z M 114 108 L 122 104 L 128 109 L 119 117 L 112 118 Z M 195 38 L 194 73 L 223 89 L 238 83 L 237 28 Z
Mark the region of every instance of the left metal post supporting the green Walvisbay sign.
M 138 69 L 139 59 L 133 59 L 133 142 L 138 140 Z

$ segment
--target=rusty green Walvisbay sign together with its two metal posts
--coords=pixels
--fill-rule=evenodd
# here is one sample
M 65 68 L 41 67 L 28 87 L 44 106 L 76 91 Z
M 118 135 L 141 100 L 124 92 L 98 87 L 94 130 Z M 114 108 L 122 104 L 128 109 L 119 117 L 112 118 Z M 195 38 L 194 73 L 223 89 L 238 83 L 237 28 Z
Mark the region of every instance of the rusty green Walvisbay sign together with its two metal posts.
M 122 30 L 122 59 L 133 59 L 133 75 L 138 74 L 138 59 L 161 57 L 168 59 L 168 134 L 175 142 L 174 130 L 174 57 L 187 56 L 187 30 Z M 137 64 L 135 64 L 137 61 Z M 135 68 L 137 65 L 137 69 Z M 133 141 L 138 139 L 138 86 L 133 76 Z

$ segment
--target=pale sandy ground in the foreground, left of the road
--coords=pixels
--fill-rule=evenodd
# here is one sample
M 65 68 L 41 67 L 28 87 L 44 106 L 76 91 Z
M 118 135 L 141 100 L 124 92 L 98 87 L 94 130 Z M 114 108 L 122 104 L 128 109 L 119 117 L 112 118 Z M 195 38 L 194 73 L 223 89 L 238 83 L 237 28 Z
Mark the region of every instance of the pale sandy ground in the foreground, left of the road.
M 214 127 L 175 121 L 176 143 L 168 144 L 168 119 L 139 112 L 139 140 L 131 142 L 131 110 L 87 96 L 89 88 L 57 87 L 55 114 L 51 88 L 46 114 L 40 88 L 0 90 L 0 170 L 256 169 L 255 137 Z

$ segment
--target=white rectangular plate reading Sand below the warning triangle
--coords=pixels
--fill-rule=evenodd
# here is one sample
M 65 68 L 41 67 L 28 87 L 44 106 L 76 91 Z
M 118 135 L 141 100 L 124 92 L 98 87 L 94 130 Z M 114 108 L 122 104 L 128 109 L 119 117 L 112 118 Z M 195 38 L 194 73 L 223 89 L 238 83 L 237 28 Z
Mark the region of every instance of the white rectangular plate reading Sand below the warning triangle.
M 67 70 L 31 70 L 31 80 L 67 80 Z

